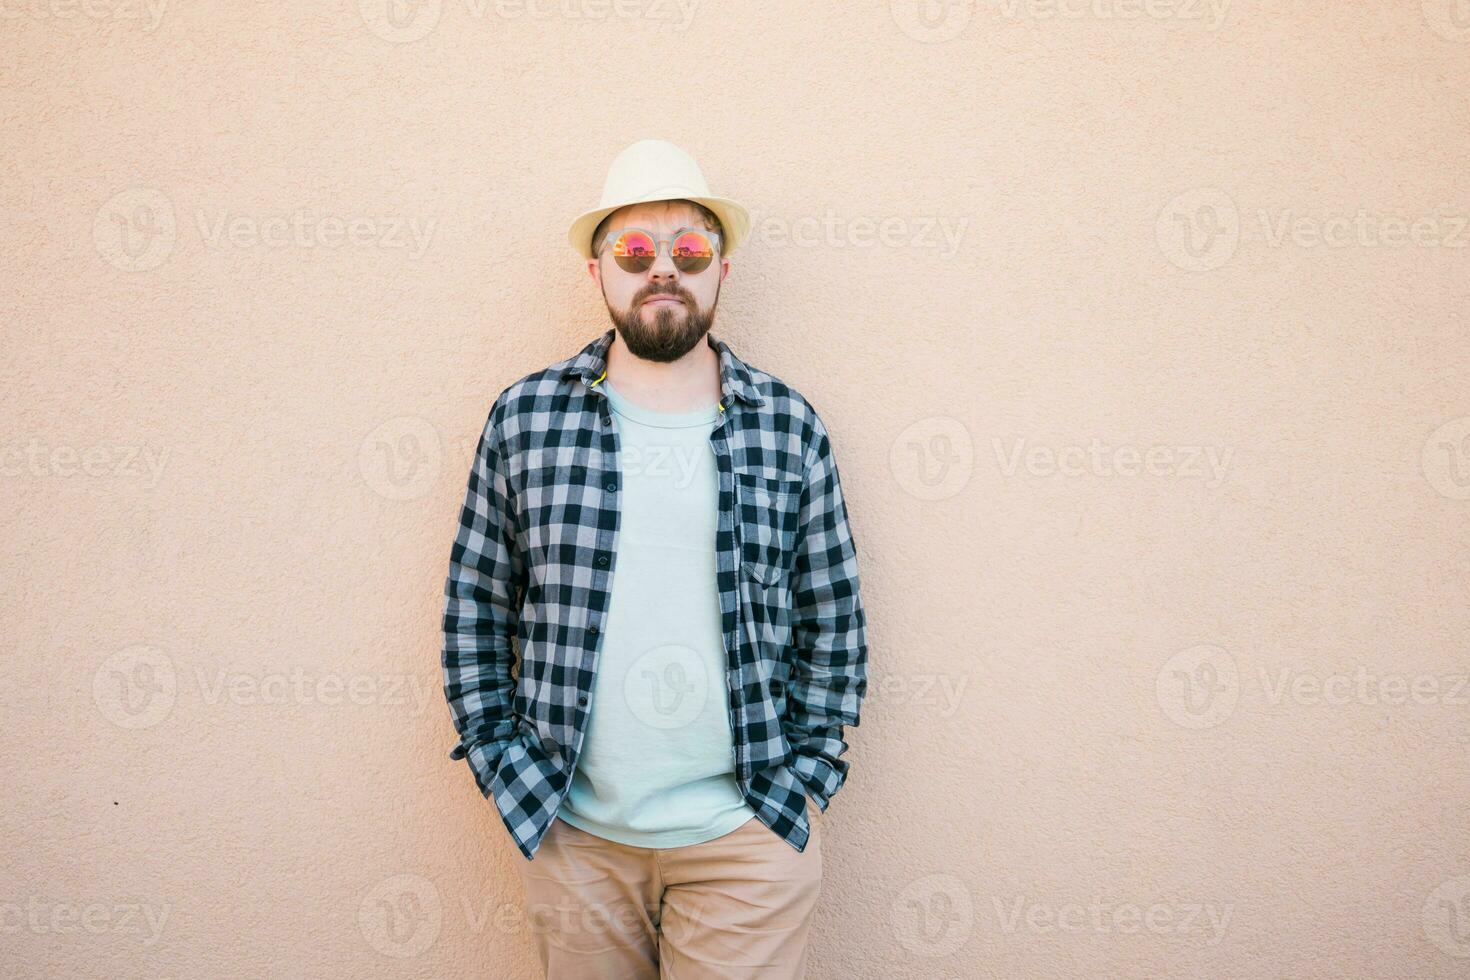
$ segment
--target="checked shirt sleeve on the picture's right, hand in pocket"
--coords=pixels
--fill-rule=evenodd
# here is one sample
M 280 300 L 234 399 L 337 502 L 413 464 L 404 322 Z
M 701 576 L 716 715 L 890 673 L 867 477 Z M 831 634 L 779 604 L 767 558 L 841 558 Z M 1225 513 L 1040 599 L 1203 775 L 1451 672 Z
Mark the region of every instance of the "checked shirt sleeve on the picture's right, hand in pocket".
M 801 491 L 792 577 L 791 688 L 786 739 L 792 771 L 825 811 L 847 779 L 844 726 L 858 724 L 867 693 L 867 624 L 857 545 L 832 444 L 820 419 Z

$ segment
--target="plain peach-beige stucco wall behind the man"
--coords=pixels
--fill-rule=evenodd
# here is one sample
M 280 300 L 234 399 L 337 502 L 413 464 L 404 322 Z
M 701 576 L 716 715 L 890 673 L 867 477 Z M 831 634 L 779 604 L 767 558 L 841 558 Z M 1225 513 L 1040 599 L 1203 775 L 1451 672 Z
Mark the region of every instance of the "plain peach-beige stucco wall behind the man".
M 535 976 L 441 591 L 644 137 L 861 555 L 811 976 L 1470 971 L 1463 4 L 0 6 L 0 974 Z

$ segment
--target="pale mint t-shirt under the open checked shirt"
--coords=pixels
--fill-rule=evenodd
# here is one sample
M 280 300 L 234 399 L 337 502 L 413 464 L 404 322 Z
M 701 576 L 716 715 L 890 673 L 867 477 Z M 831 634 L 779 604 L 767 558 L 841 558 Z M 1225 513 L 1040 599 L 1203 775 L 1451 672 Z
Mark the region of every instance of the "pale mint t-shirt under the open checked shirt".
M 714 530 L 719 408 L 654 411 L 603 379 L 617 414 L 617 563 L 582 754 L 557 815 L 678 848 L 756 815 L 735 782 Z

